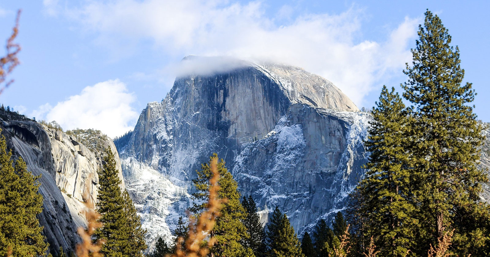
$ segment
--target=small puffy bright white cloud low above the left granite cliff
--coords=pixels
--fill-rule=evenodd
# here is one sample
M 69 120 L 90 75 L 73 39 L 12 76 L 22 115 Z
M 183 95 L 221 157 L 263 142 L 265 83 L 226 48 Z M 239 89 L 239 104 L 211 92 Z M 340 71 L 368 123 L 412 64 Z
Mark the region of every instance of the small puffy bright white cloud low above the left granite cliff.
M 100 129 L 114 138 L 133 129 L 138 118 L 138 113 L 131 107 L 135 100 L 123 82 L 107 80 L 85 87 L 80 94 L 54 107 L 49 103 L 41 105 L 31 116 L 38 120 L 57 121 L 64 129 Z

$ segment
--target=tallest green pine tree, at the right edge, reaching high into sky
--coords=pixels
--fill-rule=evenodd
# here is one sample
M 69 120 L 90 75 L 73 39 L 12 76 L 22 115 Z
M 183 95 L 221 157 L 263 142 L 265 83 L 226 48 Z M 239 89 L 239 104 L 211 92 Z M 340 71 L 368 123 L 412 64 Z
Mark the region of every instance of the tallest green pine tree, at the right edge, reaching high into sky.
M 482 255 L 478 249 L 490 245 L 484 231 L 474 224 L 488 221 L 488 206 L 479 203 L 486 176 L 478 170 L 479 146 L 483 136 L 473 113 L 475 92 L 471 83 L 462 84 L 458 47 L 441 19 L 425 12 L 419 26 L 413 62 L 404 71 L 408 81 L 403 96 L 414 106 L 415 123 L 411 152 L 417 190 L 418 254 L 454 229 L 452 253 Z M 471 225 L 473 224 L 473 225 Z

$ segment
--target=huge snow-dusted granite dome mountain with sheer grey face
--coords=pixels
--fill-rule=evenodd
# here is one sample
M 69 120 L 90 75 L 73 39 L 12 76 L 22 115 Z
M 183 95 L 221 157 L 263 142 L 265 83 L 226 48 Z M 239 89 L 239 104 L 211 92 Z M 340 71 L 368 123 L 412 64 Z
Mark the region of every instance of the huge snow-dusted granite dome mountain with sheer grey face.
M 296 231 L 345 207 L 363 174 L 370 116 L 330 81 L 301 68 L 242 61 L 177 77 L 115 141 L 147 239 L 168 236 L 212 153 L 261 211 L 276 205 Z M 263 217 L 265 218 L 265 217 Z

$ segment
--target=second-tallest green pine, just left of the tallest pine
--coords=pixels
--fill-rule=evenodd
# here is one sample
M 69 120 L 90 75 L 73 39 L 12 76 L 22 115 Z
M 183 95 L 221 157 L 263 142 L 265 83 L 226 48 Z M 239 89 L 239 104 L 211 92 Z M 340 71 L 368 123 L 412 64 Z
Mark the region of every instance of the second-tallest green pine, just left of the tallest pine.
M 415 203 L 410 186 L 412 169 L 407 130 L 410 117 L 394 88 L 383 86 L 379 101 L 372 109 L 366 147 L 371 153 L 365 178 L 352 194 L 357 197 L 357 220 L 364 222 L 361 241 L 371 236 L 381 249 L 379 256 L 405 256 L 414 242 L 412 218 Z M 360 227 L 355 224 L 355 227 Z

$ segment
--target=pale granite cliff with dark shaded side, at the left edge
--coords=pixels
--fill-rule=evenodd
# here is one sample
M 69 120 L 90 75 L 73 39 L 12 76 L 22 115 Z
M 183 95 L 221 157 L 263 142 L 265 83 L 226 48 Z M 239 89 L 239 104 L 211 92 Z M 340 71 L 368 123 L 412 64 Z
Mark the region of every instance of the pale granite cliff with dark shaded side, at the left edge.
M 38 218 L 50 252 L 57 255 L 60 246 L 66 253 L 74 251 L 80 240 L 76 230 L 86 225 L 84 198 L 97 199 L 101 156 L 80 143 L 80 138 L 20 115 L 4 115 L 0 128 L 14 156 L 22 156 L 34 176 L 41 175 L 39 191 L 44 202 Z M 110 138 L 101 141 L 117 153 Z M 117 156 L 116 161 L 120 163 Z

